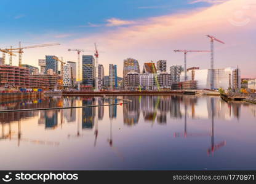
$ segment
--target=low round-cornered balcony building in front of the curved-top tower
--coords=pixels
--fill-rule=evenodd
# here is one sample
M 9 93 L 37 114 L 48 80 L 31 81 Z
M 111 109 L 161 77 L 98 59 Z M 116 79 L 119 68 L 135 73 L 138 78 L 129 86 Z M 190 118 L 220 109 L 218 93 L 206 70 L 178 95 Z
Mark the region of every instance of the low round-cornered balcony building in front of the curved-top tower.
M 140 85 L 140 74 L 135 71 L 130 71 L 124 78 L 124 88 L 126 90 L 137 90 Z

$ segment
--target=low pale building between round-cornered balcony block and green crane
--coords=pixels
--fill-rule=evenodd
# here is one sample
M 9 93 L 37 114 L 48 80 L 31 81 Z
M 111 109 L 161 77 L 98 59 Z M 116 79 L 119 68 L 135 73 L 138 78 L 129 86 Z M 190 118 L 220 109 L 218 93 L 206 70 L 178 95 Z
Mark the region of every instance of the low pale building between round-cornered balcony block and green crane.
M 154 90 L 156 74 L 140 74 L 140 87 L 143 90 Z

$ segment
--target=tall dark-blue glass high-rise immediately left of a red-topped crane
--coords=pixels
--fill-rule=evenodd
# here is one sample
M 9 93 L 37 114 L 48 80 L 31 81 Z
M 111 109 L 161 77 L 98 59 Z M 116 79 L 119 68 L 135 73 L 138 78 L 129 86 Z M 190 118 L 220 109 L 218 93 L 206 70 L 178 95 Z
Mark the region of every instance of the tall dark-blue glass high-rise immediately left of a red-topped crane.
M 82 84 L 95 86 L 95 59 L 92 55 L 82 56 Z

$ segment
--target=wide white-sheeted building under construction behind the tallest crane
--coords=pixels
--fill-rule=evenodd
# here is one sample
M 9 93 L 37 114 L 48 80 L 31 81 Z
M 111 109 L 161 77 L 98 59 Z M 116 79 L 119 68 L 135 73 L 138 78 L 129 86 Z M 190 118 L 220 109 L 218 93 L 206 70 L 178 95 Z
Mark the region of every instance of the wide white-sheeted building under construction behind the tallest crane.
M 180 74 L 183 82 L 185 72 Z M 197 81 L 199 90 L 210 89 L 210 69 L 191 69 L 187 72 L 187 80 Z M 241 88 L 240 71 L 235 67 L 226 67 L 225 69 L 214 69 L 214 89 Z

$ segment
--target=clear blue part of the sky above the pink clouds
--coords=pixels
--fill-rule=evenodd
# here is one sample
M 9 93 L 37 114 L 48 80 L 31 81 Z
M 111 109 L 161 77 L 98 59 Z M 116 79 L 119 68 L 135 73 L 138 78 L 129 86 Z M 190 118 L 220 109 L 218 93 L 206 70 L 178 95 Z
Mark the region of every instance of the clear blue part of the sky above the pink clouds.
M 137 20 L 189 10 L 208 3 L 191 0 L 1 0 L 2 40 L 28 41 L 31 35 L 94 33 L 109 18 Z M 111 29 L 111 28 L 108 28 Z M 114 28 L 112 28 L 114 29 Z M 2 44 L 0 44 L 3 46 Z M 4 45 L 5 46 L 5 45 Z

